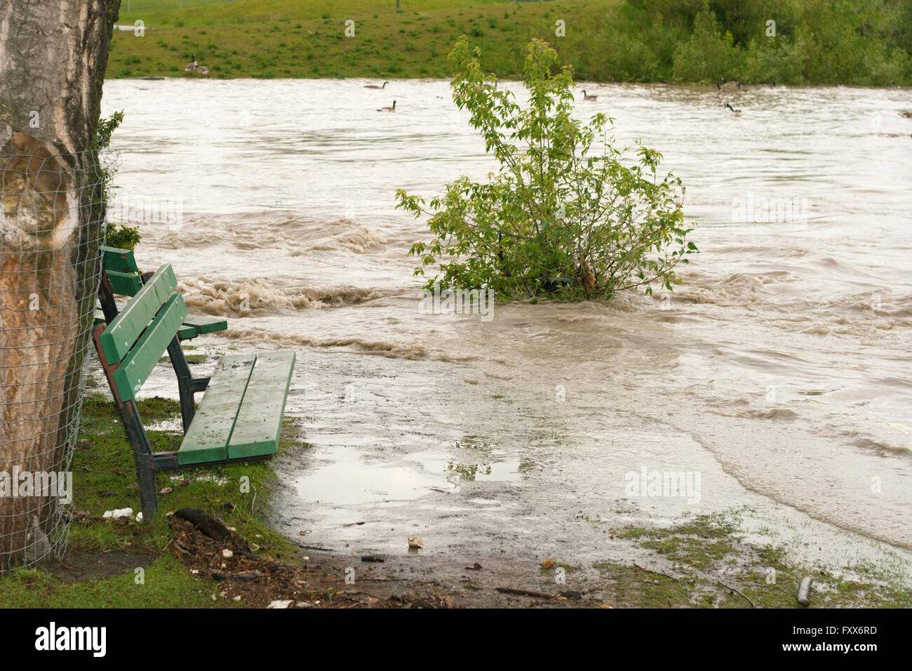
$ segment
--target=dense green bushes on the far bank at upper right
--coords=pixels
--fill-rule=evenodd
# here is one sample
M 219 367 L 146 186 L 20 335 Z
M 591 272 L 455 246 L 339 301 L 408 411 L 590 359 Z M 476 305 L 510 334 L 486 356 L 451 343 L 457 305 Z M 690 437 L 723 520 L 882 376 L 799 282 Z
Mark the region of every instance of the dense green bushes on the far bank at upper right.
M 561 49 L 580 79 L 912 84 L 910 0 L 627 0 L 593 27 Z

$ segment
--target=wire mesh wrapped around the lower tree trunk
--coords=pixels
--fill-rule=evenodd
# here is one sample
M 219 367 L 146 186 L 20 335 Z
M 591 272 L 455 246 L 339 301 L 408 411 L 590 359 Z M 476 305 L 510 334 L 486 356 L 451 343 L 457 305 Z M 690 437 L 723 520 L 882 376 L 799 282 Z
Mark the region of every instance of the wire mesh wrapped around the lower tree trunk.
M 105 225 L 97 152 L 0 154 L 0 571 L 63 554 Z

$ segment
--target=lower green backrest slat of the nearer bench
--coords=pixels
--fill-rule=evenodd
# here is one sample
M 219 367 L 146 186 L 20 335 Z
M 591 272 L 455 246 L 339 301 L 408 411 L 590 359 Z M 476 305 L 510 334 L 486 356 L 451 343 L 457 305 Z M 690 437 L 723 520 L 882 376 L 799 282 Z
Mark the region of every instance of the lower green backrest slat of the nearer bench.
M 117 384 L 121 401 L 130 401 L 140 391 L 142 383 L 146 382 L 186 316 L 187 306 L 183 303 L 183 296 L 179 293 L 171 294 L 171 298 L 165 301 L 149 328 L 142 333 L 140 340 L 136 341 L 114 371 L 114 382 Z

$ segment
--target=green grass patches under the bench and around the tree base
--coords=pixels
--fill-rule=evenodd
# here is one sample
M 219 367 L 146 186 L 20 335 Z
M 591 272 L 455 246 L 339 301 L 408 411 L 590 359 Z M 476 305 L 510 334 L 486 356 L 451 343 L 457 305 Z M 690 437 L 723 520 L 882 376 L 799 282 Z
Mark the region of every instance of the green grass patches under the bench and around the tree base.
M 140 416 L 155 450 L 177 449 L 179 431 L 148 430 L 150 426 L 180 425 L 181 410 L 176 401 L 161 398 L 139 402 Z M 278 454 L 302 445 L 295 440 L 295 423 L 286 420 Z M 114 404 L 106 395 L 89 393 L 83 404 L 82 425 L 73 456 L 73 509 L 102 515 L 112 508 L 140 510 L 140 491 L 130 443 L 120 424 Z M 73 524 L 68 554 L 79 551 L 103 553 L 121 550 L 136 553 L 136 566 L 144 571 L 137 584 L 133 571 L 84 582 L 64 582 L 38 569 L 9 571 L 0 575 L 0 607 L 160 607 L 235 606 L 223 599 L 212 600 L 215 583 L 193 577 L 186 566 L 163 551 L 173 534 L 164 514 L 185 507 L 203 508 L 219 514 L 239 535 L 255 542 L 258 553 L 281 561 L 295 561 L 295 547 L 281 534 L 269 529 L 254 509 L 264 502 L 275 483 L 275 472 L 267 462 L 230 464 L 160 474 L 159 488 L 171 493 L 159 495 L 160 514 L 151 521 L 119 525 Z M 241 477 L 250 478 L 250 491 L 241 491 Z M 253 547 L 253 546 L 252 546 Z M 65 560 L 66 561 L 66 558 Z

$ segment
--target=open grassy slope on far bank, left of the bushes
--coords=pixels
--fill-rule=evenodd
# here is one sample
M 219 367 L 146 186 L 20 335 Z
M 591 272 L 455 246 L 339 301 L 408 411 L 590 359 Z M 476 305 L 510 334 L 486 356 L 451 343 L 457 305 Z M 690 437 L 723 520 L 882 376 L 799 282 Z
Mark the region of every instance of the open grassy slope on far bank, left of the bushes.
M 470 6 L 471 5 L 471 6 Z M 485 64 L 502 79 L 522 71 L 531 37 L 578 53 L 584 31 L 617 11 L 605 0 L 512 3 L 483 0 L 124 0 L 120 25 L 142 20 L 144 37 L 115 33 L 108 77 L 184 76 L 197 61 L 215 77 L 449 77 L 447 54 L 460 35 L 482 47 Z M 563 19 L 567 37 L 554 36 Z M 345 21 L 355 37 L 345 37 Z M 565 56 L 565 54 L 562 54 Z M 572 58 L 566 58 L 569 62 Z

